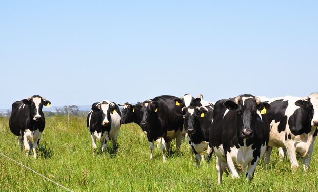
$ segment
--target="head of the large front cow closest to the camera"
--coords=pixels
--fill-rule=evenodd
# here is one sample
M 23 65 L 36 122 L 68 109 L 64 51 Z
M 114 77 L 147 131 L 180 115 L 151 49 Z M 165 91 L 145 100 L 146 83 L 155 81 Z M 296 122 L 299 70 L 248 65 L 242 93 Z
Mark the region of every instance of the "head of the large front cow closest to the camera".
M 249 139 L 254 136 L 254 126 L 257 120 L 262 121 L 260 111 L 269 109 L 270 105 L 261 102 L 260 98 L 252 95 L 240 95 L 235 97 L 234 101 L 227 100 L 224 103 L 229 110 L 235 110 L 237 114 L 238 136 Z

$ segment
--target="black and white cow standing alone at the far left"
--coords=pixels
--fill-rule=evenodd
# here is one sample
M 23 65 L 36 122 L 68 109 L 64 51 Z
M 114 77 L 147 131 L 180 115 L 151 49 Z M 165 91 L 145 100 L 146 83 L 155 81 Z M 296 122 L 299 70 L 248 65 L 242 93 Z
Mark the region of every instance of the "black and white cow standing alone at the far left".
M 33 157 L 36 158 L 36 147 L 45 127 L 42 108 L 43 105 L 49 106 L 50 104 L 50 101 L 39 95 L 33 95 L 12 104 L 9 127 L 11 132 L 18 136 L 21 151 L 23 150 L 22 143 L 24 144 L 27 156 L 33 148 Z

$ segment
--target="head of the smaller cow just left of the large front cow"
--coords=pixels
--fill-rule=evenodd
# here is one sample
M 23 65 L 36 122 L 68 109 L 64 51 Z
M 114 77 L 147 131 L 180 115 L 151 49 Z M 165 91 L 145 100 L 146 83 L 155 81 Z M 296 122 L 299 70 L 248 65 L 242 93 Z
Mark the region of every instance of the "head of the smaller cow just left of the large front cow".
M 202 118 L 208 113 L 204 108 L 198 106 L 183 107 L 181 110 L 184 118 L 184 127 L 187 134 L 195 134 L 200 129 L 199 118 Z

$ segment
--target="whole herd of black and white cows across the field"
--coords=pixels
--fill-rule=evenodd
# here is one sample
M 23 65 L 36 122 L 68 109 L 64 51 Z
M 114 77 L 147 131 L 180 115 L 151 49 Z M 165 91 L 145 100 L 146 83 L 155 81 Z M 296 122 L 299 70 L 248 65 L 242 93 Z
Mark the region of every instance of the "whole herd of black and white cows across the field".
M 36 157 L 36 147 L 45 127 L 42 108 L 50 104 L 39 95 L 12 104 L 9 127 L 18 136 L 21 150 L 24 144 L 27 156 L 33 149 Z M 181 98 L 162 95 L 120 106 L 121 111 L 116 103 L 108 100 L 92 105 L 87 127 L 93 154 L 97 150 L 96 140 L 101 142 L 103 152 L 109 140 L 116 149 L 121 124 L 134 122 L 147 135 L 150 159 L 154 157 L 155 141 L 166 162 L 165 152 L 170 150 L 170 142 L 175 139 L 179 150 L 183 136 L 189 142 L 191 159 L 194 154 L 197 166 L 201 160 L 209 160 L 214 152 L 218 184 L 223 172 L 238 178 L 239 173 L 246 171 L 246 179 L 250 180 L 260 158 L 269 164 L 272 147 L 279 147 L 281 159 L 287 153 L 293 171 L 298 168 L 296 154 L 299 154 L 304 170 L 308 171 L 318 132 L 318 93 L 304 98 L 272 99 L 244 94 L 216 103 L 203 100 L 202 95 L 198 98 L 190 94 Z

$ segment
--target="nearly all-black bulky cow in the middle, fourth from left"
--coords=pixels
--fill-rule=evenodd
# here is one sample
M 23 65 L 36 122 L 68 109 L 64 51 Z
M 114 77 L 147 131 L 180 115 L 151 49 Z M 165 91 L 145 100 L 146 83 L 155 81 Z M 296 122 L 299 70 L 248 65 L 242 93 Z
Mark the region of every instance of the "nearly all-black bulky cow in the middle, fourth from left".
M 163 161 L 166 162 L 165 152 L 169 151 L 170 141 L 176 139 L 177 150 L 180 149 L 183 118 L 175 111 L 180 111 L 181 106 L 175 105 L 177 97 L 163 95 L 142 103 L 142 121 L 140 126 L 147 132 L 150 143 L 150 159 L 153 159 L 154 141 L 160 145 Z

